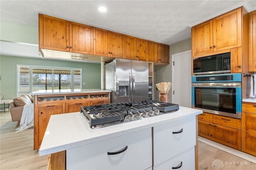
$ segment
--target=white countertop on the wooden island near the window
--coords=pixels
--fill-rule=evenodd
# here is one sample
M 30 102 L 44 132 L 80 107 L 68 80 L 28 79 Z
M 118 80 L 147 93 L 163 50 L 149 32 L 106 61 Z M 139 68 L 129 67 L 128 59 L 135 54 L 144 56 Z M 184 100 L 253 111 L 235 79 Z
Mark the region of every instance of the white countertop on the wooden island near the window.
M 55 89 L 55 90 L 38 90 L 33 91 L 30 95 L 56 95 L 56 94 L 73 94 L 73 93 L 101 93 L 111 92 L 105 89 Z

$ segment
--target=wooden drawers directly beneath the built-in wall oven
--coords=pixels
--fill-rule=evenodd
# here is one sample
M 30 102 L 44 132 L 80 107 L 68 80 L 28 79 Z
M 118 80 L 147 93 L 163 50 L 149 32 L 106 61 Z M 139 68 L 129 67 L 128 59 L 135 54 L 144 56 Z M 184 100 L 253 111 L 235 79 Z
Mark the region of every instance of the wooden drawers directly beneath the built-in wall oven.
M 198 135 L 241 150 L 241 120 L 202 113 L 198 115 Z

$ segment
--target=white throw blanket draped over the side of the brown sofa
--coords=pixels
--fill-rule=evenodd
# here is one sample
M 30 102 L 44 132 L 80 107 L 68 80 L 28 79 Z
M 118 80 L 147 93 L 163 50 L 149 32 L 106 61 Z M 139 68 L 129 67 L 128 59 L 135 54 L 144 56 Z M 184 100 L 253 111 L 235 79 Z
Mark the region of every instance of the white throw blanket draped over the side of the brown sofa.
M 34 103 L 24 105 L 20 119 L 20 127 L 16 129 L 16 132 L 20 132 L 32 126 L 34 126 Z

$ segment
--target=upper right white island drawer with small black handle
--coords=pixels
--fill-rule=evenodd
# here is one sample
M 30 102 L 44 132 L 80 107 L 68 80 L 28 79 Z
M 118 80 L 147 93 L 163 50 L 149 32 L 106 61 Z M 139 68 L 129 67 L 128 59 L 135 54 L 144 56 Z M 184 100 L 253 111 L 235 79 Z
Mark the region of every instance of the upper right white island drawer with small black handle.
M 196 118 L 154 127 L 154 166 L 196 145 Z

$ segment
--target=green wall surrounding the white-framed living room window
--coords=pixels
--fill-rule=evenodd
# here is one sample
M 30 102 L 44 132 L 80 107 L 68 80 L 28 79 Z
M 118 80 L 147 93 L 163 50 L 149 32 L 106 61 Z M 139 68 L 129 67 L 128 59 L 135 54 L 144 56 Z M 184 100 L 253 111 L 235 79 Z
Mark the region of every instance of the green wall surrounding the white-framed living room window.
M 83 89 L 100 89 L 101 65 L 97 63 L 82 63 L 50 59 L 35 59 L 26 57 L 0 56 L 0 93 L 3 99 L 13 99 L 17 94 L 17 64 L 51 67 L 82 68 Z

